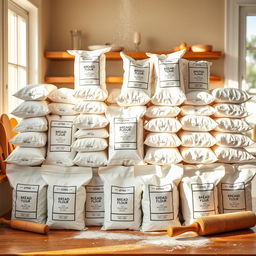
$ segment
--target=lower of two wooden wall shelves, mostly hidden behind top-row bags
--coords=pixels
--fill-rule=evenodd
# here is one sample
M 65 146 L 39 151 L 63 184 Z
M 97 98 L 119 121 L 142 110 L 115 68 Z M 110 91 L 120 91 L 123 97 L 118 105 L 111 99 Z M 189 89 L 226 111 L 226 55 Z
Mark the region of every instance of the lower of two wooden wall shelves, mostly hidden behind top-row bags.
M 221 82 L 222 79 L 219 76 L 210 76 L 210 82 Z M 73 84 L 73 76 L 47 76 L 45 77 L 45 82 L 49 84 Z M 122 76 L 107 76 L 107 84 L 122 84 Z

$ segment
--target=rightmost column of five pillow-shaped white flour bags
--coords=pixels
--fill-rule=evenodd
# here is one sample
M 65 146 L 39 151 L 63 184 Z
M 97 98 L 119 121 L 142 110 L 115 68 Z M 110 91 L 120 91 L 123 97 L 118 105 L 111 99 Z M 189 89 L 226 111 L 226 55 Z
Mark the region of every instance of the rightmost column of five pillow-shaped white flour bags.
M 244 120 L 248 116 L 245 102 L 250 96 L 240 89 L 220 88 L 212 90 L 215 98 L 214 119 L 218 126 L 212 133 L 216 139 L 213 151 L 221 163 L 243 163 L 255 161 L 256 158 L 244 147 L 254 142 L 244 133 L 251 130 Z

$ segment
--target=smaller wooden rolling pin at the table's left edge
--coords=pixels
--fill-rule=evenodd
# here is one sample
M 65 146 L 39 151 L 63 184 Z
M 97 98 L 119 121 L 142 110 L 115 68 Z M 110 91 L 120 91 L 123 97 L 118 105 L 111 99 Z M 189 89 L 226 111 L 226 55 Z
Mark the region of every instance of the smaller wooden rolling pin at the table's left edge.
M 6 220 L 4 218 L 0 218 L 0 224 L 6 224 L 14 229 L 30 231 L 39 234 L 47 234 L 49 231 L 49 226 L 47 225 L 24 220 Z

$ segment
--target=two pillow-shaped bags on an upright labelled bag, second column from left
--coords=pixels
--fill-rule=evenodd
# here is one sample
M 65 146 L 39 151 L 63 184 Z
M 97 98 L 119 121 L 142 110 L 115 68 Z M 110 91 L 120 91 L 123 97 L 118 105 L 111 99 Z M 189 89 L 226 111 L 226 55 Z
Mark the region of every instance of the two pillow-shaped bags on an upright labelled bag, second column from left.
M 48 150 L 45 164 L 73 166 L 76 152 L 71 148 L 74 142 L 75 127 L 73 120 L 77 115 L 74 110 L 73 90 L 60 88 L 49 95 L 51 115 L 47 116 Z

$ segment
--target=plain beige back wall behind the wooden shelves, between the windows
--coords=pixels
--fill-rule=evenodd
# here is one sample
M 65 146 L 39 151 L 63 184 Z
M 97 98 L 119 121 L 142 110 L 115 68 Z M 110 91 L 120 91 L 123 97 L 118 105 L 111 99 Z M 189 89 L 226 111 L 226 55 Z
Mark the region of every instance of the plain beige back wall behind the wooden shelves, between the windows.
M 212 44 L 224 49 L 224 0 L 51 0 L 47 50 L 71 47 L 71 29 L 83 32 L 83 48 L 106 42 L 134 50 L 134 31 L 142 34 L 142 51 L 171 50 L 180 42 Z M 45 21 L 48 22 L 48 21 Z M 108 75 L 122 74 L 121 63 L 109 62 Z M 72 75 L 72 62 L 49 62 L 48 75 Z M 223 60 L 214 61 L 223 76 Z

